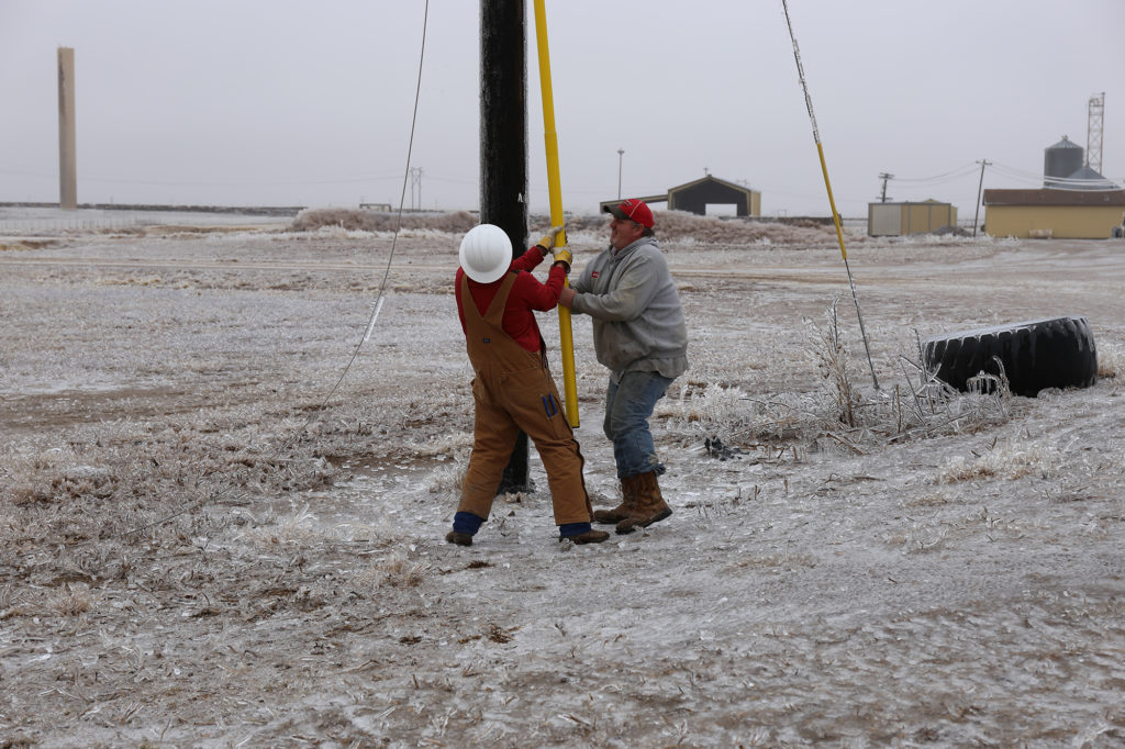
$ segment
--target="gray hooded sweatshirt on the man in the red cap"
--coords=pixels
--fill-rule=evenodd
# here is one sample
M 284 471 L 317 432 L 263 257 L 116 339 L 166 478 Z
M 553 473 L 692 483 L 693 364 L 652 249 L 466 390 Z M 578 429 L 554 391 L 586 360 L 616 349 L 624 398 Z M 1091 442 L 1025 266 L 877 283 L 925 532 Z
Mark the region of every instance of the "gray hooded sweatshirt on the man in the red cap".
M 594 351 L 613 381 L 630 371 L 676 378 L 687 370 L 687 325 L 655 237 L 608 247 L 572 286 L 570 310 L 593 318 Z

